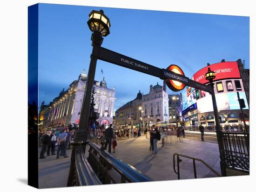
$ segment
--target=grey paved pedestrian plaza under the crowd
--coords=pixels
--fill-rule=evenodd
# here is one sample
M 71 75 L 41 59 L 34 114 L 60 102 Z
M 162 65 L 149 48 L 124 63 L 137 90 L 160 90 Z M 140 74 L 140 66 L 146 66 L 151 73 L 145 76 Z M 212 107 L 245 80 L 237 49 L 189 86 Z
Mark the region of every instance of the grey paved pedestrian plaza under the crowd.
M 177 174 L 173 170 L 173 154 L 180 153 L 204 160 L 209 166 L 220 173 L 220 159 L 218 144 L 182 138 L 177 140 L 176 136 L 168 136 L 165 147 L 161 147 L 158 141 L 158 154 L 152 157 L 149 154 L 149 139 L 145 135 L 131 137 L 127 140 L 117 141 L 116 153 L 118 159 L 134 166 L 142 173 L 155 181 L 176 180 Z M 70 166 L 71 149 L 67 150 L 68 158 L 61 157 L 56 160 L 56 155 L 46 156 L 46 159 L 39 160 L 39 187 L 65 187 Z M 87 147 L 88 151 L 88 147 Z M 86 153 L 88 155 L 88 152 Z M 181 179 L 194 178 L 192 160 L 181 157 L 180 174 Z M 201 162 L 196 163 L 198 178 L 214 177 L 206 166 Z

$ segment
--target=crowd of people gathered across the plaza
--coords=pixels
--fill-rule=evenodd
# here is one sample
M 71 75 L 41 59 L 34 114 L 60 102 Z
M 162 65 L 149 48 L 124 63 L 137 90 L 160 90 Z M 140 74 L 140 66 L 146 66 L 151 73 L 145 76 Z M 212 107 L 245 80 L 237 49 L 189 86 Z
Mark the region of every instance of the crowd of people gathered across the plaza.
M 56 159 L 61 156 L 67 158 L 67 147 L 69 146 L 72 138 L 74 138 L 75 131 L 77 131 L 77 125 L 69 125 L 66 127 L 54 127 L 48 130 L 46 133 L 44 131 L 39 134 L 39 141 L 42 145 L 40 151 L 40 159 L 45 159 L 45 154 L 47 156 L 56 155 Z M 140 137 L 142 130 L 141 128 L 113 128 L 112 124 L 101 126 L 92 123 L 89 128 L 90 139 L 96 139 L 97 143 L 101 143 L 102 140 L 105 141 L 105 150 L 108 148 L 109 153 L 115 153 L 115 148 L 117 146 L 117 138 L 130 138 L 130 137 Z M 157 141 L 162 142 L 162 147 L 165 146 L 166 140 L 168 140 L 167 130 L 172 130 L 173 133 L 177 135 L 177 139 L 180 136 L 185 137 L 184 129 L 182 128 L 171 128 L 171 127 L 161 127 L 158 128 L 153 125 L 151 128 L 144 129 L 144 135 L 148 138 L 149 135 L 149 151 L 150 155 L 155 157 L 157 155 Z M 55 147 L 58 146 L 57 153 L 55 153 Z

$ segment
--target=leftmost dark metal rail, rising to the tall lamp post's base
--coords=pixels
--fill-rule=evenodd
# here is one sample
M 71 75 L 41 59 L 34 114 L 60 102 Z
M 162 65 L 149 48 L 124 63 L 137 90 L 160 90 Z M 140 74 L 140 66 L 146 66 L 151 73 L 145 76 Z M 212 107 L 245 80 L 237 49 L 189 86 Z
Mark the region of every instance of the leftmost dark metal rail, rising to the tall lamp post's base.
M 75 153 L 75 169 L 78 186 L 102 185 L 100 179 L 88 163 L 82 147 L 79 147 Z

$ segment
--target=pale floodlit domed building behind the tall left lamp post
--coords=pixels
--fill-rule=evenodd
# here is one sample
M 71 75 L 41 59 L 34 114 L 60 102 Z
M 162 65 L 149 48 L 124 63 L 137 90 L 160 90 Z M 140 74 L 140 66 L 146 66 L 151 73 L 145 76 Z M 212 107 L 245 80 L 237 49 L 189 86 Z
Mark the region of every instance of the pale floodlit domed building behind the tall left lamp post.
M 78 124 L 80 120 L 83 96 L 86 88 L 87 75 L 85 70 L 77 80 L 72 82 L 68 89 L 60 92 L 48 105 L 50 108 L 43 118 L 43 128 L 56 125 L 67 127 L 69 124 Z M 107 87 L 103 77 L 101 82 L 94 81 L 94 109 L 100 114 L 100 124 L 113 122 L 113 110 L 115 104 L 115 86 L 113 89 Z

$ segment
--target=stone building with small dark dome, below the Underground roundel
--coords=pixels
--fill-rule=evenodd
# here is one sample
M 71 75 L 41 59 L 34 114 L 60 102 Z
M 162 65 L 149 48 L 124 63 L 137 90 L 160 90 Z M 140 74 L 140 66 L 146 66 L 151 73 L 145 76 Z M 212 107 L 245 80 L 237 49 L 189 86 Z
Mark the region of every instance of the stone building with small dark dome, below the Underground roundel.
M 141 107 L 141 110 L 140 110 Z M 146 127 L 153 124 L 169 123 L 168 93 L 166 84 L 158 83 L 149 86 L 149 93 L 144 95 L 141 91 L 136 98 L 115 112 L 115 126 Z

